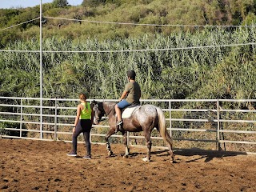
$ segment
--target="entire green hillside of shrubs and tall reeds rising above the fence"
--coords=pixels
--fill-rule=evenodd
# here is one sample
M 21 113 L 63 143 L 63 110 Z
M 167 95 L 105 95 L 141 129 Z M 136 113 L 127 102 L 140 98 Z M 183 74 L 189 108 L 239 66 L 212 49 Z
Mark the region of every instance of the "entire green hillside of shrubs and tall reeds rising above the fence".
M 182 25 L 251 25 L 253 0 L 84 1 L 81 6 L 43 5 L 45 98 L 118 98 L 126 70 L 138 73 L 142 98 L 255 98 L 255 46 L 218 46 L 256 41 L 254 27 L 134 26 L 85 22 Z M 0 10 L 0 29 L 38 18 L 39 6 Z M 56 18 L 72 18 L 62 20 Z M 2 49 L 39 50 L 39 20 L 0 31 Z M 145 50 L 106 52 L 104 50 Z M 39 54 L 0 53 L 0 95 L 39 97 Z

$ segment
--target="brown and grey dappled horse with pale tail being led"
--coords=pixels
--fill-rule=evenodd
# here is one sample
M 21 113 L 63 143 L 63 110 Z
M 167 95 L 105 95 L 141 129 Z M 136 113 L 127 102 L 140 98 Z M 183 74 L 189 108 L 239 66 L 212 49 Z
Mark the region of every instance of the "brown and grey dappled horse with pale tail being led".
M 116 126 L 117 118 L 115 115 L 114 106 L 116 102 L 93 102 L 93 110 L 94 110 L 94 124 L 98 125 L 102 120 L 102 116 L 106 114 L 106 118 L 108 118 L 108 124 L 110 126 L 110 130 L 105 136 L 106 139 L 106 149 L 108 151 L 108 156 L 110 157 L 113 152 L 110 148 L 109 138 L 112 134 L 117 131 L 121 131 L 123 136 L 123 144 L 125 145 L 125 154 L 124 158 L 128 158 L 129 148 L 127 145 L 127 131 L 129 132 L 144 132 L 144 136 L 146 138 L 146 146 L 147 146 L 147 154 L 146 158 L 142 160 L 144 162 L 150 162 L 150 152 L 151 152 L 151 140 L 150 134 L 154 128 L 156 128 L 164 141 L 166 142 L 169 153 L 170 153 L 170 162 L 174 162 L 174 153 L 172 150 L 172 139 L 170 138 L 170 134 L 166 130 L 166 118 L 160 109 L 157 106 L 153 105 L 143 105 L 137 106 L 134 112 L 131 114 L 130 118 L 123 118 L 123 125 Z

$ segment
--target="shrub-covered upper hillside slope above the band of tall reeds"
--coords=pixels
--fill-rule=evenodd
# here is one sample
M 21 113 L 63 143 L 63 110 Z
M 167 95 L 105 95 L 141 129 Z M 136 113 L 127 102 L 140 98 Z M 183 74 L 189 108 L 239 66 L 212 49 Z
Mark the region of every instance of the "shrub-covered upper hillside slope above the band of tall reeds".
M 65 1 L 65 0 L 54 0 Z M 194 27 L 132 26 L 97 24 L 56 18 L 101 22 L 126 22 L 161 25 L 250 25 L 256 17 L 254 0 L 84 0 L 81 6 L 58 7 L 54 3 L 42 6 L 44 38 L 106 40 L 110 38 L 137 38 L 144 34 L 162 34 L 194 31 Z M 26 9 L 0 10 L 0 29 L 39 17 L 39 6 Z M 1 46 L 15 39 L 38 38 L 39 20 L 1 31 Z

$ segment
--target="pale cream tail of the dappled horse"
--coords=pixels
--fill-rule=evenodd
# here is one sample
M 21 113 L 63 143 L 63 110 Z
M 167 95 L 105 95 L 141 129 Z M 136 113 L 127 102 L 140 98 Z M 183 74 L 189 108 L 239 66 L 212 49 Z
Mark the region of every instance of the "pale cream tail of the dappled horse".
M 165 115 L 162 112 L 162 109 L 159 107 L 156 107 L 158 111 L 158 130 L 164 139 L 165 142 L 167 142 L 168 146 L 170 147 L 170 150 L 172 148 L 172 139 L 170 138 L 170 134 L 168 133 L 166 129 L 166 118 Z

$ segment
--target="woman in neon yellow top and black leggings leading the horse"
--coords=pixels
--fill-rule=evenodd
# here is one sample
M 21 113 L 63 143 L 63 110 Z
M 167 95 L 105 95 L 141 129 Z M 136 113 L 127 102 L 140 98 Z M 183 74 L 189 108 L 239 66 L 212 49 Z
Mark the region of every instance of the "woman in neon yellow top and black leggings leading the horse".
M 94 122 L 94 110 L 92 110 L 90 103 L 86 102 L 86 94 L 79 94 L 80 104 L 77 108 L 77 117 L 74 121 L 72 145 L 73 150 L 68 156 L 77 156 L 78 135 L 83 134 L 86 142 L 87 154 L 83 158 L 90 159 L 90 129 Z

